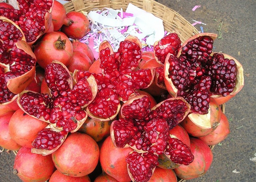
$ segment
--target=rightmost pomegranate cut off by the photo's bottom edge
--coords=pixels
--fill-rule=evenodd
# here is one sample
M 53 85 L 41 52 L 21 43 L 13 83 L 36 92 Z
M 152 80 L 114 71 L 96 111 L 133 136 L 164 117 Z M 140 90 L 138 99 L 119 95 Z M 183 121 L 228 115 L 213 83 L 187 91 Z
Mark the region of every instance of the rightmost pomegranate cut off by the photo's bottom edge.
M 171 169 L 162 169 L 159 167 L 156 167 L 153 175 L 151 176 L 150 180 L 148 182 L 177 182 L 177 176 L 175 175 L 174 171 Z

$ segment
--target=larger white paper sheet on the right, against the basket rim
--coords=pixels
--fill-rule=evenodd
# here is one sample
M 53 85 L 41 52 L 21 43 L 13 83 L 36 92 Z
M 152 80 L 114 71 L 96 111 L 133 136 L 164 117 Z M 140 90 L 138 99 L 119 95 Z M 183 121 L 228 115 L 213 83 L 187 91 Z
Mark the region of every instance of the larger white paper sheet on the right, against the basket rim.
M 131 3 L 128 5 L 126 13 L 133 13 L 134 17 L 136 17 L 135 24 L 138 25 L 141 30 L 147 31 L 148 35 L 150 35 L 150 32 L 153 32 L 153 42 L 164 37 L 163 20 L 160 18 L 155 17 L 152 13 L 146 12 Z

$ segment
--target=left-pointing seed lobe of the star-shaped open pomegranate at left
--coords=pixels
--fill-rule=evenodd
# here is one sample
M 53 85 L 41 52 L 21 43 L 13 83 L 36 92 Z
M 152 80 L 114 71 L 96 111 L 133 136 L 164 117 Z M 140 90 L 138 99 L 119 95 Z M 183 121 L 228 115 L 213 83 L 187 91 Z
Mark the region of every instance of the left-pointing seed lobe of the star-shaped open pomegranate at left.
M 50 119 L 50 102 L 51 98 L 47 93 L 34 93 L 29 91 L 23 93 L 20 97 L 20 105 L 29 115 L 35 116 L 38 119 L 42 116 L 46 121 Z

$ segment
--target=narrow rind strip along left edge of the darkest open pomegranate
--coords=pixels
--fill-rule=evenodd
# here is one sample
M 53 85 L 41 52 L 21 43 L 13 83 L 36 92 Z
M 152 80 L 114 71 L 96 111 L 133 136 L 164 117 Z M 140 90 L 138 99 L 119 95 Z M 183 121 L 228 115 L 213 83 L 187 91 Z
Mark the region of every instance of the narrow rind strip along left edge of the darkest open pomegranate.
M 169 58 L 172 54 L 168 53 L 165 62 L 164 62 L 164 83 L 167 91 L 170 93 L 172 97 L 177 97 L 178 89 L 173 85 L 171 78 L 169 78 Z

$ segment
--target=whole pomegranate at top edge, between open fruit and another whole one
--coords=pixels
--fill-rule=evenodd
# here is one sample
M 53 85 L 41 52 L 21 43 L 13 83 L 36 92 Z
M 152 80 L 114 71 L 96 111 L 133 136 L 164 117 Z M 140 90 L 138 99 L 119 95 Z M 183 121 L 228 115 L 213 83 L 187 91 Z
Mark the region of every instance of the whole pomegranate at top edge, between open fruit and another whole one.
M 66 17 L 66 9 L 59 1 L 54 1 L 51 16 L 54 31 L 60 30 L 62 25 L 69 26 L 73 22 L 73 20 Z

